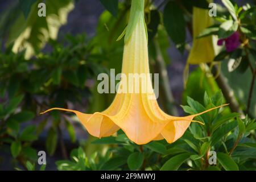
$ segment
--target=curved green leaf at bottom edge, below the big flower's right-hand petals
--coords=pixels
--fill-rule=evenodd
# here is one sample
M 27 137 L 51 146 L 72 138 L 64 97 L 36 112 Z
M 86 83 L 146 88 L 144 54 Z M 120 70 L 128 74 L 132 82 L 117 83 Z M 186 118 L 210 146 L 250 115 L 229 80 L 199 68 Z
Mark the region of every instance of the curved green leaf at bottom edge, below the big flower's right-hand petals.
M 185 153 L 185 154 L 179 154 L 175 155 L 171 159 L 167 160 L 166 163 L 163 164 L 162 168 L 160 168 L 161 171 L 175 171 L 179 169 L 181 164 L 183 164 L 191 154 Z

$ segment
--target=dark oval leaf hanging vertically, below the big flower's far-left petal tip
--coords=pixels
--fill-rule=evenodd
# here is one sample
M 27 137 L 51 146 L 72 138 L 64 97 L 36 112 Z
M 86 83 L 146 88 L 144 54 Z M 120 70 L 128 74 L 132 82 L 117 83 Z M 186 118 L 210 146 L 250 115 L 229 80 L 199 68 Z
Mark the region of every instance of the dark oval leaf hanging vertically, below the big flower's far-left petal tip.
M 57 147 L 57 131 L 53 127 L 51 127 L 48 131 L 47 138 L 46 138 L 46 150 L 48 151 L 49 155 L 53 155 L 56 147 Z

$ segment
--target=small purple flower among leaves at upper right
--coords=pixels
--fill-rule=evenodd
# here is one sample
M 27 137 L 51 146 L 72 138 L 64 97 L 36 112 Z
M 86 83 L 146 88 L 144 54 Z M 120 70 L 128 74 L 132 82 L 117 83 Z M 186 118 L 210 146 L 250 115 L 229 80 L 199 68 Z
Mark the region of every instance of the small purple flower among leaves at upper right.
M 238 32 L 234 32 L 234 34 L 230 35 L 228 38 L 218 40 L 217 45 L 222 46 L 225 42 L 226 51 L 232 52 L 240 46 L 239 36 Z

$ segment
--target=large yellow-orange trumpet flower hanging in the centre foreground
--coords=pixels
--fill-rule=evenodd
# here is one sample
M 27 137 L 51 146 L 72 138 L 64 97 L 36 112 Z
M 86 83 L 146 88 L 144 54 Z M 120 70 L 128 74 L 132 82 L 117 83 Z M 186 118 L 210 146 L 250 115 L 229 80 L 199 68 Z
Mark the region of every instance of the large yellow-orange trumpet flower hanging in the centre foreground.
M 150 73 L 147 30 L 144 23 L 144 0 L 133 0 L 131 3 L 131 15 L 125 34 L 122 73 L 123 75 Z M 123 80 L 121 77 L 121 84 L 112 104 L 101 113 L 84 114 L 80 111 L 61 108 L 52 108 L 43 113 L 51 110 L 71 111 L 77 115 L 82 125 L 94 137 L 109 137 L 122 129 L 131 141 L 146 144 L 151 140 L 160 139 L 166 139 L 168 143 L 175 142 L 184 134 L 189 124 L 194 122 L 194 117 L 221 107 L 214 107 L 203 113 L 186 117 L 175 117 L 164 113 L 158 106 L 150 79 L 146 80 L 149 90 L 146 93 L 143 93 L 141 89 L 138 93 L 120 92 L 121 85 L 125 85 Z M 131 88 L 135 86 L 135 83 L 130 85 L 129 82 L 128 86 Z M 145 85 L 140 81 L 139 87 L 143 88 L 143 86 Z

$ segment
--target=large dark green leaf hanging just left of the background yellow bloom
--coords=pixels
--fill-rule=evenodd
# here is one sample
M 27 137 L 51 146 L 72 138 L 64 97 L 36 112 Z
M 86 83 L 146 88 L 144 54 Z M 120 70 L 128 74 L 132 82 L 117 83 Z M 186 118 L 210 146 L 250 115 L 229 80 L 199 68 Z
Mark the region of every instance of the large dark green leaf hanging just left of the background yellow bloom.
M 174 1 L 169 1 L 164 8 L 164 27 L 176 47 L 183 51 L 186 39 L 185 20 L 179 5 Z

